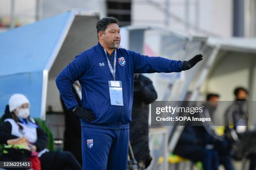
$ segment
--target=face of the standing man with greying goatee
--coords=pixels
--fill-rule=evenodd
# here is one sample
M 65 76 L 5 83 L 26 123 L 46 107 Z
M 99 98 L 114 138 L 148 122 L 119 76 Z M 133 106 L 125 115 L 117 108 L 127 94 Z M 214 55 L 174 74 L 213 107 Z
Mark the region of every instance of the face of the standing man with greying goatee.
M 118 48 L 121 41 L 120 28 L 117 24 L 109 24 L 105 32 L 99 32 L 99 38 L 108 48 Z

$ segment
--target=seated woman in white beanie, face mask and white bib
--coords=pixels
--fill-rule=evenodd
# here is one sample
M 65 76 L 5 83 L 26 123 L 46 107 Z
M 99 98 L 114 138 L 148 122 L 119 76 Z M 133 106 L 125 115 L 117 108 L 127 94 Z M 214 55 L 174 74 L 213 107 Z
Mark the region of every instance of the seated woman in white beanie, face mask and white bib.
M 49 152 L 48 136 L 30 117 L 30 102 L 25 95 L 14 94 L 10 97 L 9 107 L 0 125 L 0 144 L 8 140 L 26 137 L 32 152 L 38 152 L 42 170 L 81 170 L 81 166 L 69 152 Z

